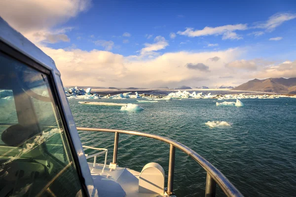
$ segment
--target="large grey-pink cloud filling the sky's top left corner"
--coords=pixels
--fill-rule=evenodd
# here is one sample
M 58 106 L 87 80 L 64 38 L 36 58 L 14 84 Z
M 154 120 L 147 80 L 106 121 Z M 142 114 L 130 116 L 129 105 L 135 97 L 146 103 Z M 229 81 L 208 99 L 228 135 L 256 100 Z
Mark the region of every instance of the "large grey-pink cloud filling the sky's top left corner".
M 90 7 L 90 0 L 19 0 L 1 2 L 1 17 L 16 30 L 27 33 L 62 24 Z M 13 12 L 13 14 L 12 14 Z

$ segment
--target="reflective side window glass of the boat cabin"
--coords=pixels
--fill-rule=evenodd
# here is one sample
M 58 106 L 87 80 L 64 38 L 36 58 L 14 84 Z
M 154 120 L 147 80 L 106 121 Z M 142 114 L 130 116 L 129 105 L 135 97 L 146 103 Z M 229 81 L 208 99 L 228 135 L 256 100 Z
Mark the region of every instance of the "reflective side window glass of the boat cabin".
M 81 194 L 49 77 L 1 53 L 0 70 L 0 196 Z

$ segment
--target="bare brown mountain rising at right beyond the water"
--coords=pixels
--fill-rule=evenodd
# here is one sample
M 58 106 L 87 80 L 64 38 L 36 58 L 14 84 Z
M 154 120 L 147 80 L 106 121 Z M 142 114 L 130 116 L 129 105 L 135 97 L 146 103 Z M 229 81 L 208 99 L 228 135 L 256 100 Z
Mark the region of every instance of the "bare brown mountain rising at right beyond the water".
M 295 78 L 268 78 L 254 79 L 237 86 L 233 90 L 258 91 L 282 94 L 296 93 L 296 77 Z

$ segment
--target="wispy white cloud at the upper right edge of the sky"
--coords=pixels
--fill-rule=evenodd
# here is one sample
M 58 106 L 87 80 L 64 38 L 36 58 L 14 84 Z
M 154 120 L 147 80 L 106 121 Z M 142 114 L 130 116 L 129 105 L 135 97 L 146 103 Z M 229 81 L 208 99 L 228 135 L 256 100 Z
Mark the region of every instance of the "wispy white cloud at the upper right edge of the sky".
M 267 32 L 272 32 L 276 27 L 282 25 L 285 21 L 296 18 L 296 14 L 277 13 L 268 18 L 267 21 L 257 22 L 253 28 L 266 29 Z

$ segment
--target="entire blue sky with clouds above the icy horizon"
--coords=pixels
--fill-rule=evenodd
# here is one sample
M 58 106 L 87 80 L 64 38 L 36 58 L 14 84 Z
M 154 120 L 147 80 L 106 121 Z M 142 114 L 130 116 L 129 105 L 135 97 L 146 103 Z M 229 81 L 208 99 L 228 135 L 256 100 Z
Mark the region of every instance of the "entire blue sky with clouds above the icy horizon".
M 295 0 L 1 0 L 64 86 L 238 86 L 296 77 Z

